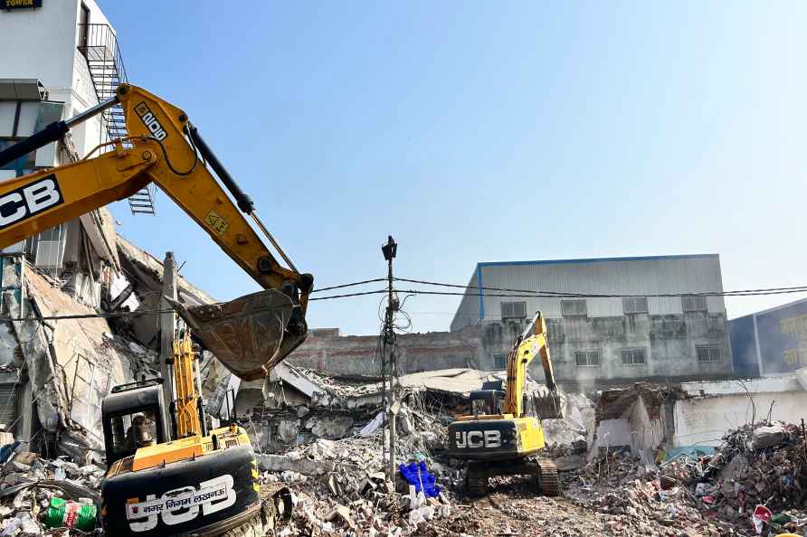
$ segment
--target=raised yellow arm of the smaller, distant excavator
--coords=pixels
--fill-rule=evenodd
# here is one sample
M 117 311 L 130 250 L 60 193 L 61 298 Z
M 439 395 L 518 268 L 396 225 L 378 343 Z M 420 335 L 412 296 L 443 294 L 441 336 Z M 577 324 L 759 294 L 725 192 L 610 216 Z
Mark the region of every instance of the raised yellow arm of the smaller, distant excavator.
M 524 333 L 519 335 L 508 354 L 508 385 L 505 392 L 504 413 L 519 418 L 523 415 L 524 383 L 527 378 L 527 366 L 536 356 L 541 357 L 546 379 L 546 395 L 536 396 L 539 407 L 538 414 L 542 418 L 561 418 L 560 400 L 555 384 L 555 372 L 549 357 L 549 346 L 546 344 L 546 321 L 541 312 L 537 312 L 533 322 L 527 325 Z

